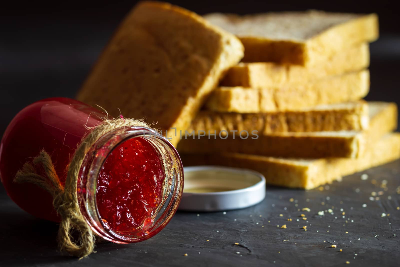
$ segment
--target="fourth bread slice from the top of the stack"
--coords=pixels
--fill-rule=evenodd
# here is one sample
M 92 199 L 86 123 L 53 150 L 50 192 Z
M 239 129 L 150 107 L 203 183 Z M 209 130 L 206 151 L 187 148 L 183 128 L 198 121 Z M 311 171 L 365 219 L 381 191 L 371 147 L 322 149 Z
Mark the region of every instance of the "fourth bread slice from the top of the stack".
M 372 108 L 376 103 L 371 103 Z M 368 104 L 360 100 L 305 108 L 299 111 L 234 113 L 200 111 L 188 132 L 257 130 L 261 135 L 274 132 L 320 132 L 364 130 L 368 128 Z

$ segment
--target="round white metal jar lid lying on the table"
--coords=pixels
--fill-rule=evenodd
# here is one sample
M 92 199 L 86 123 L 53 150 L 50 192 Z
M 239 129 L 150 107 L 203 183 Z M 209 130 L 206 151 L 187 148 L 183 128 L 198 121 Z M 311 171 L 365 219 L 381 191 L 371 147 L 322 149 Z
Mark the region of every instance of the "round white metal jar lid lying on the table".
M 219 166 L 184 167 L 180 211 L 226 211 L 260 203 L 265 178 L 248 169 Z

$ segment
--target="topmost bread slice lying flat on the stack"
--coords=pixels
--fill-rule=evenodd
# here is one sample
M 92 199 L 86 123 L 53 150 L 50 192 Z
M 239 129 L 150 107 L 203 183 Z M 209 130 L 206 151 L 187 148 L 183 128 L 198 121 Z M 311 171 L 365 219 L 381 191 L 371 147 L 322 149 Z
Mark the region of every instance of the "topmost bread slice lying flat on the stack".
M 316 66 L 332 54 L 378 38 L 376 14 L 312 10 L 247 16 L 214 13 L 205 18 L 240 38 L 244 62 Z

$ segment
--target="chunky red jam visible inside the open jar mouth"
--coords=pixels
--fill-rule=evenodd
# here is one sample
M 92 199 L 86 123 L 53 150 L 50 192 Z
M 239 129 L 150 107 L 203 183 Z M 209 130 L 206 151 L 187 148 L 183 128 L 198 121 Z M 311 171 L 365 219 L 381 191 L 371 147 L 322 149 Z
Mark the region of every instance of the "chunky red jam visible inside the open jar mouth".
M 162 201 L 164 179 L 162 162 L 149 141 L 143 137 L 125 141 L 100 171 L 96 193 L 100 217 L 114 232 L 146 235 Z

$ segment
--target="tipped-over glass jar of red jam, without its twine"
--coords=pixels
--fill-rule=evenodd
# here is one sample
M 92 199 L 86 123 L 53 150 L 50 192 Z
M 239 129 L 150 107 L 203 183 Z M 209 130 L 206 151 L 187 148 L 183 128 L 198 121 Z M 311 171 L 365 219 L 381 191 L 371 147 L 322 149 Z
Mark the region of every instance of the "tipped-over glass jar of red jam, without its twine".
M 10 198 L 36 217 L 60 221 L 48 192 L 33 184 L 14 183 L 13 179 L 24 163 L 43 149 L 51 156 L 64 186 L 74 151 L 105 118 L 96 108 L 69 98 L 48 98 L 21 110 L 8 125 L 0 145 L 0 177 Z M 116 168 L 120 168 L 118 172 Z M 148 175 L 149 171 L 154 175 Z M 150 128 L 124 126 L 110 130 L 86 153 L 77 196 L 80 211 L 95 233 L 116 243 L 131 243 L 154 236 L 168 224 L 178 208 L 182 189 L 182 162 L 171 143 Z M 146 203 L 152 200 L 153 205 Z M 146 205 L 139 207 L 137 203 Z M 124 211 L 132 209 L 127 217 L 118 214 L 125 204 L 130 206 Z M 114 210 L 116 217 L 111 225 L 104 217 Z M 121 231 L 118 227 L 129 220 L 136 220 L 136 226 Z

